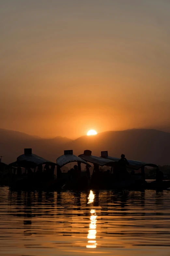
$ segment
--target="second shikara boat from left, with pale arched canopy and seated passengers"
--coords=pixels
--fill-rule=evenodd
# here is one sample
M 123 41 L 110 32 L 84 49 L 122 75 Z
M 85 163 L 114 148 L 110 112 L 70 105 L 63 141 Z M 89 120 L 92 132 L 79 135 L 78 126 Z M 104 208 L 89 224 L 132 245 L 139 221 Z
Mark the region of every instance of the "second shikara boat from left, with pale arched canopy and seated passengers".
M 62 187 L 64 190 L 79 190 L 79 189 L 88 189 L 90 185 L 90 171 L 91 167 L 85 160 L 82 158 L 73 155 L 73 150 L 64 150 L 64 155 L 60 156 L 56 160 L 57 162 L 57 177 L 65 179 L 65 184 Z M 75 170 L 74 173 L 62 173 L 61 168 L 69 163 L 76 162 L 78 170 Z M 86 172 L 81 172 L 81 163 L 86 165 Z

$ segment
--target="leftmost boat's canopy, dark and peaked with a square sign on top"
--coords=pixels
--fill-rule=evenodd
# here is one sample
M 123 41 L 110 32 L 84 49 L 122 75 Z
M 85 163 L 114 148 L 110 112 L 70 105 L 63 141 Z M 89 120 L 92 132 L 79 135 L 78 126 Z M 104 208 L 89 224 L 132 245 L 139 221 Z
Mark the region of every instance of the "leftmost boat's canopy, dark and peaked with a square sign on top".
M 24 149 L 24 154 L 17 157 L 17 161 L 10 163 L 9 166 L 37 166 L 39 164 L 46 164 L 48 163 L 49 165 L 56 165 L 56 163 L 51 162 L 49 160 L 46 160 L 40 156 L 37 156 L 35 154 L 32 154 L 32 149 L 31 148 L 25 148 Z

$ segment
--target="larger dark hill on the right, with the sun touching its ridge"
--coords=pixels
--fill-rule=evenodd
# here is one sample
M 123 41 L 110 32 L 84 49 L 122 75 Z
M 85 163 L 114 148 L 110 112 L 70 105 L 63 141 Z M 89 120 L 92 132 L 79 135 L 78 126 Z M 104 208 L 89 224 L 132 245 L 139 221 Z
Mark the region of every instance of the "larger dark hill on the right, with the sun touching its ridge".
M 123 153 L 128 159 L 163 164 L 170 162 L 170 133 L 153 129 L 130 129 L 106 131 L 94 136 L 82 136 L 70 144 L 75 154 L 92 150 L 100 156 L 107 150 L 110 156 L 120 157 Z

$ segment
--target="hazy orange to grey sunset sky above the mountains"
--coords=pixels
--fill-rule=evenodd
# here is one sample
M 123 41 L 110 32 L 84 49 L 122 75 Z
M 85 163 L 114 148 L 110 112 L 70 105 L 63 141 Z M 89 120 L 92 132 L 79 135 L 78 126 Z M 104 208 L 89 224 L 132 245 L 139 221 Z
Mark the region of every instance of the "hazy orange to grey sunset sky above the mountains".
M 168 125 L 169 25 L 169 0 L 1 0 L 0 128 Z

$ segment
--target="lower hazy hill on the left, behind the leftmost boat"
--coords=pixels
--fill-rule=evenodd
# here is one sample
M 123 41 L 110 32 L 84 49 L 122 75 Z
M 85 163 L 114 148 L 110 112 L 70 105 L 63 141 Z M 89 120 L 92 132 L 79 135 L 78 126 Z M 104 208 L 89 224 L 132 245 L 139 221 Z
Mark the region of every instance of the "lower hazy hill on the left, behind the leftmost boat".
M 0 129 L 0 155 L 6 163 L 16 161 L 23 154 L 24 148 L 32 148 L 32 152 L 56 162 L 56 155 L 64 150 L 64 145 L 72 140 L 58 136 L 54 139 L 43 139 L 23 132 Z

